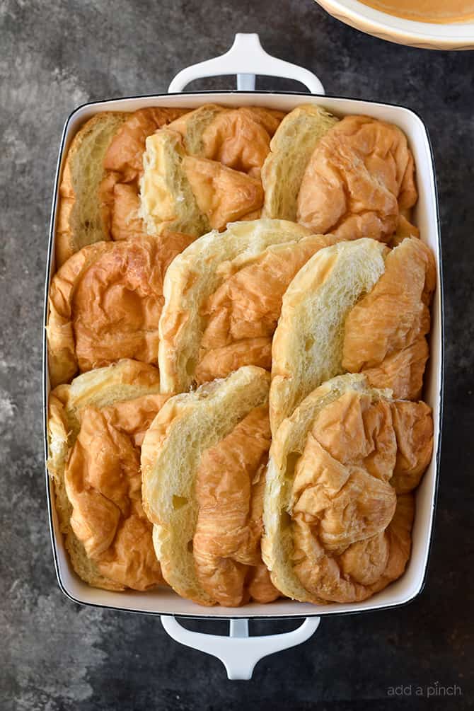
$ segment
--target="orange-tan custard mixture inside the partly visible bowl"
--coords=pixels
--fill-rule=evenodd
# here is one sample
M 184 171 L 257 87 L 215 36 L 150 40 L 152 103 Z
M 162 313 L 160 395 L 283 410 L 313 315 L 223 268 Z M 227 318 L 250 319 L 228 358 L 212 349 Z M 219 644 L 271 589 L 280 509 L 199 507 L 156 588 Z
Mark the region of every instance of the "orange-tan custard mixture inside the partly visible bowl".
M 417 22 L 474 21 L 473 0 L 361 0 L 375 10 Z

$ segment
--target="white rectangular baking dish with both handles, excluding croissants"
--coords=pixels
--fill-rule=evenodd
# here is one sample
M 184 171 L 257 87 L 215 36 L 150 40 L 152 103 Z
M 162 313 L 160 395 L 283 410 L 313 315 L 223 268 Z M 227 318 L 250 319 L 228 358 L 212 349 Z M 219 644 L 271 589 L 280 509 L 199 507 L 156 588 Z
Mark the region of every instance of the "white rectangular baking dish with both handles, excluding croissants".
M 183 94 L 181 89 L 194 78 L 210 75 L 238 74 L 238 84 L 246 89 L 254 86 L 254 74 L 292 77 L 306 84 L 311 93 L 276 93 L 252 91 L 198 92 Z M 53 506 L 53 488 L 46 476 L 48 491 L 48 509 L 50 530 L 53 542 L 53 554 L 58 582 L 63 592 L 75 602 L 124 611 L 162 615 L 163 626 L 171 636 L 182 643 L 214 654 L 226 664 L 230 678 L 250 678 L 254 664 L 259 658 L 271 652 L 287 648 L 304 641 L 313 634 L 321 616 L 342 613 L 355 613 L 375 609 L 384 609 L 405 604 L 414 599 L 424 585 L 426 566 L 431 543 L 431 530 L 436 500 L 436 483 L 440 455 L 441 402 L 443 384 L 443 308 L 441 279 L 441 245 L 439 235 L 438 207 L 436 201 L 436 183 L 433 169 L 433 156 L 426 126 L 411 109 L 401 106 L 379 104 L 375 102 L 343 99 L 323 96 L 321 82 L 307 70 L 289 65 L 281 60 L 269 57 L 260 46 L 257 35 L 237 35 L 232 49 L 222 57 L 207 63 L 195 65 L 183 70 L 171 82 L 170 93 L 145 97 L 93 102 L 75 109 L 65 123 L 60 145 L 58 169 L 55 178 L 53 210 L 50 224 L 48 247 L 48 269 L 46 294 L 50 278 L 54 274 L 55 220 L 58 207 L 58 186 L 61 168 L 70 141 L 80 125 L 97 112 L 120 110 L 135 111 L 147 106 L 198 107 L 205 102 L 216 102 L 226 106 L 262 105 L 274 109 L 290 111 L 303 102 L 321 105 L 328 111 L 343 116 L 345 114 L 367 114 L 377 119 L 397 124 L 409 139 L 416 161 L 419 201 L 416 205 L 416 224 L 424 240 L 436 255 L 438 265 L 438 287 L 433 301 L 433 325 L 431 329 L 431 360 L 426 373 L 424 399 L 433 408 L 434 450 L 433 459 L 416 492 L 416 517 L 413 529 L 413 550 L 405 574 L 397 582 L 389 585 L 382 592 L 365 602 L 352 604 L 327 604 L 315 606 L 281 600 L 268 605 L 252 603 L 239 609 L 201 607 L 188 600 L 181 599 L 169 589 L 154 592 L 108 592 L 89 587 L 72 570 L 68 555 L 63 545 L 58 526 L 58 518 Z M 46 301 L 45 301 L 46 318 Z M 48 406 L 47 349 L 44 342 L 44 417 Z M 46 429 L 45 429 L 46 432 Z M 45 449 L 47 455 L 45 435 Z M 187 631 L 173 619 L 174 615 L 195 618 L 230 619 L 231 637 L 211 636 Z M 169 617 L 168 617 L 169 616 Z M 294 632 L 284 635 L 247 638 L 247 619 L 249 618 L 289 618 L 306 617 L 306 622 Z

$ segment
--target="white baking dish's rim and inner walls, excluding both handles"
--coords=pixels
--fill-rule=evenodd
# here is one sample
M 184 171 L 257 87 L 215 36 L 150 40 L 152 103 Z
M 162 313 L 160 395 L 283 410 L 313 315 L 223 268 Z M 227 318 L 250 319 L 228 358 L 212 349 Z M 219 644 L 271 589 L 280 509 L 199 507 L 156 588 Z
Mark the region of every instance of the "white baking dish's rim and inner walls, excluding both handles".
M 326 604 L 311 605 L 291 600 L 280 600 L 272 604 L 247 604 L 242 608 L 228 609 L 216 606 L 214 608 L 202 607 L 189 600 L 181 599 L 171 589 L 158 589 L 153 592 L 108 592 L 96 589 L 82 582 L 69 562 L 68 555 L 63 545 L 60 534 L 58 518 L 53 506 L 53 489 L 47 476 L 48 508 L 50 516 L 50 530 L 53 542 L 58 582 L 63 592 L 75 602 L 104 606 L 126 611 L 145 612 L 149 614 L 180 615 L 202 618 L 278 618 L 323 616 L 330 614 L 354 613 L 374 609 L 397 606 L 409 602 L 416 597 L 424 584 L 426 565 L 429 557 L 431 530 L 433 525 L 433 511 L 436 501 L 436 482 L 438 478 L 438 461 L 440 451 L 440 424 L 442 402 L 442 279 L 441 279 L 441 254 L 438 226 L 438 208 L 436 202 L 436 183 L 433 169 L 433 157 L 426 127 L 421 119 L 411 110 L 404 107 L 385 105 L 374 102 L 365 102 L 336 97 L 313 96 L 308 94 L 276 94 L 271 92 L 199 92 L 178 95 L 158 95 L 148 97 L 135 97 L 122 100 L 96 102 L 84 105 L 73 112 L 65 124 L 63 139 L 60 146 L 58 171 L 55 181 L 53 198 L 53 212 L 50 227 L 50 242 L 48 251 L 48 274 L 45 284 L 46 293 L 50 278 L 54 274 L 54 235 L 55 220 L 58 207 L 58 186 L 61 168 L 72 137 L 85 120 L 97 112 L 103 111 L 136 111 L 142 107 L 168 106 L 195 108 L 204 103 L 212 102 L 225 106 L 260 105 L 272 109 L 281 109 L 289 112 L 301 103 L 311 102 L 321 105 L 328 111 L 343 117 L 345 114 L 367 114 L 377 119 L 397 124 L 409 139 L 417 169 L 419 188 L 419 201 L 416 205 L 414 220 L 421 232 L 421 239 L 426 242 L 436 257 L 438 265 L 438 288 L 433 300 L 432 330 L 431 330 L 431 358 L 426 373 L 424 400 L 433 408 L 434 421 L 434 449 L 433 458 L 429 469 L 424 475 L 416 492 L 416 517 L 413 529 L 413 548 L 411 559 L 404 575 L 365 602 L 352 604 Z M 45 311 L 46 316 L 46 311 Z M 44 343 L 44 419 L 46 425 L 46 412 L 48 407 L 48 394 L 50 390 L 48 381 L 47 351 Z M 45 430 L 46 432 L 46 430 Z M 47 441 L 45 435 L 45 450 L 47 454 Z

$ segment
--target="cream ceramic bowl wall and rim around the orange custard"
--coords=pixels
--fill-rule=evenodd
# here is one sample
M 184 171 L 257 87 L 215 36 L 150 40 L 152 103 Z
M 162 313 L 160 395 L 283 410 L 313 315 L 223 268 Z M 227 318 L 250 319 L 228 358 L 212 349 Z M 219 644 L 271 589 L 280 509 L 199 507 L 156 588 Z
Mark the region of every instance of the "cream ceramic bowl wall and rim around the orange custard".
M 474 49 L 474 22 L 415 22 L 375 10 L 358 0 L 316 2 L 346 25 L 382 40 L 424 49 Z

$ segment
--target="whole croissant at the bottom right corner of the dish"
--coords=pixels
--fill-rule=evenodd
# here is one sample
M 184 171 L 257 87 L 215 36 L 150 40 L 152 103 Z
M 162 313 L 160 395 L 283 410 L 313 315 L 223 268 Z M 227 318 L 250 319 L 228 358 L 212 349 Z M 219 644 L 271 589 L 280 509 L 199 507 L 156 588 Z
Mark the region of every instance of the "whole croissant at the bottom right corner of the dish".
M 388 393 L 363 375 L 333 378 L 274 436 L 262 551 L 289 597 L 358 602 L 404 572 L 433 420 L 424 402 Z

